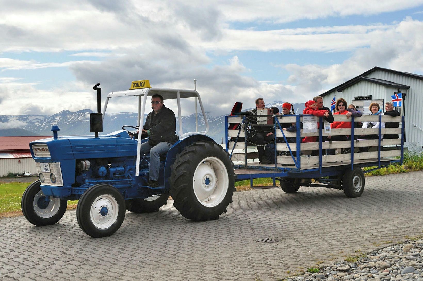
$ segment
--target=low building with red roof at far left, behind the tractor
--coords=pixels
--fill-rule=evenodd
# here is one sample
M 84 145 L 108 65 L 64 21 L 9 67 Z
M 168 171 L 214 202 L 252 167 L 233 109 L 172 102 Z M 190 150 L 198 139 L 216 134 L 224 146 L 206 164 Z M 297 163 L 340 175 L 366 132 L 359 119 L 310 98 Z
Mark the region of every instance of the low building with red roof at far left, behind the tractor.
M 36 163 L 32 159 L 29 143 L 42 138 L 51 136 L 0 137 L 0 176 L 23 171 L 36 175 Z

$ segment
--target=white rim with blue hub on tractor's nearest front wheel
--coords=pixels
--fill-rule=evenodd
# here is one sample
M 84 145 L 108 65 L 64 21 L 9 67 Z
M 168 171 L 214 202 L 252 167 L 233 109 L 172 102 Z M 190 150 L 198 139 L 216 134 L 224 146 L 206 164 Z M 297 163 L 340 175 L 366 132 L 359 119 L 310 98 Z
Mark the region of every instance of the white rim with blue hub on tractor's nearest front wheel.
M 118 213 L 118 201 L 110 194 L 100 195 L 91 203 L 91 222 L 100 229 L 111 227 L 116 222 Z

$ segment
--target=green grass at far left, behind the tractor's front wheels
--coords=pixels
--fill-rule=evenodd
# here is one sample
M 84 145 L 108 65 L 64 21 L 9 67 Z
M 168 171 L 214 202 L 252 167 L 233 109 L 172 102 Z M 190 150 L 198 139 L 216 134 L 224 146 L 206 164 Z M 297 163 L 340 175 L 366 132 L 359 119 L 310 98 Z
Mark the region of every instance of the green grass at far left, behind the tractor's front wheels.
M 21 199 L 27 186 L 30 183 L 0 183 L 0 214 L 20 211 Z M 78 200 L 68 201 L 68 207 L 74 208 Z

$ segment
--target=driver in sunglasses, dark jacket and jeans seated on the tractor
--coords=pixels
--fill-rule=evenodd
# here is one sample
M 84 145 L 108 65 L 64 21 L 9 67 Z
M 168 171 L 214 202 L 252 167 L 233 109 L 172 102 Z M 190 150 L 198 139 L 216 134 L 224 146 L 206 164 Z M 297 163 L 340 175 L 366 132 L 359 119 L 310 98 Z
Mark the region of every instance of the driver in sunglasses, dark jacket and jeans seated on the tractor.
M 178 140 L 178 136 L 175 113 L 165 107 L 161 95 L 151 97 L 151 108 L 153 111 L 148 113 L 142 129 L 142 135 L 148 135 L 148 142 L 141 144 L 140 154 L 143 157 L 148 152 L 150 153 L 147 185 L 157 187 L 159 186 L 160 155 L 169 151 L 172 144 Z

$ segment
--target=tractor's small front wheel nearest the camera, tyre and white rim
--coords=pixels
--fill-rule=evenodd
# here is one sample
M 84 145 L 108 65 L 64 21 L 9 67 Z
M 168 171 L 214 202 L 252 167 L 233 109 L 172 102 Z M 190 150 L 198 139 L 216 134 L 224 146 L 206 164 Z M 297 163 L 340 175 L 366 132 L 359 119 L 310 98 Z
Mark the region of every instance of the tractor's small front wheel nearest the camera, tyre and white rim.
M 108 184 L 96 184 L 84 193 L 77 205 L 77 221 L 91 237 L 110 236 L 125 219 L 125 200 L 121 192 Z

